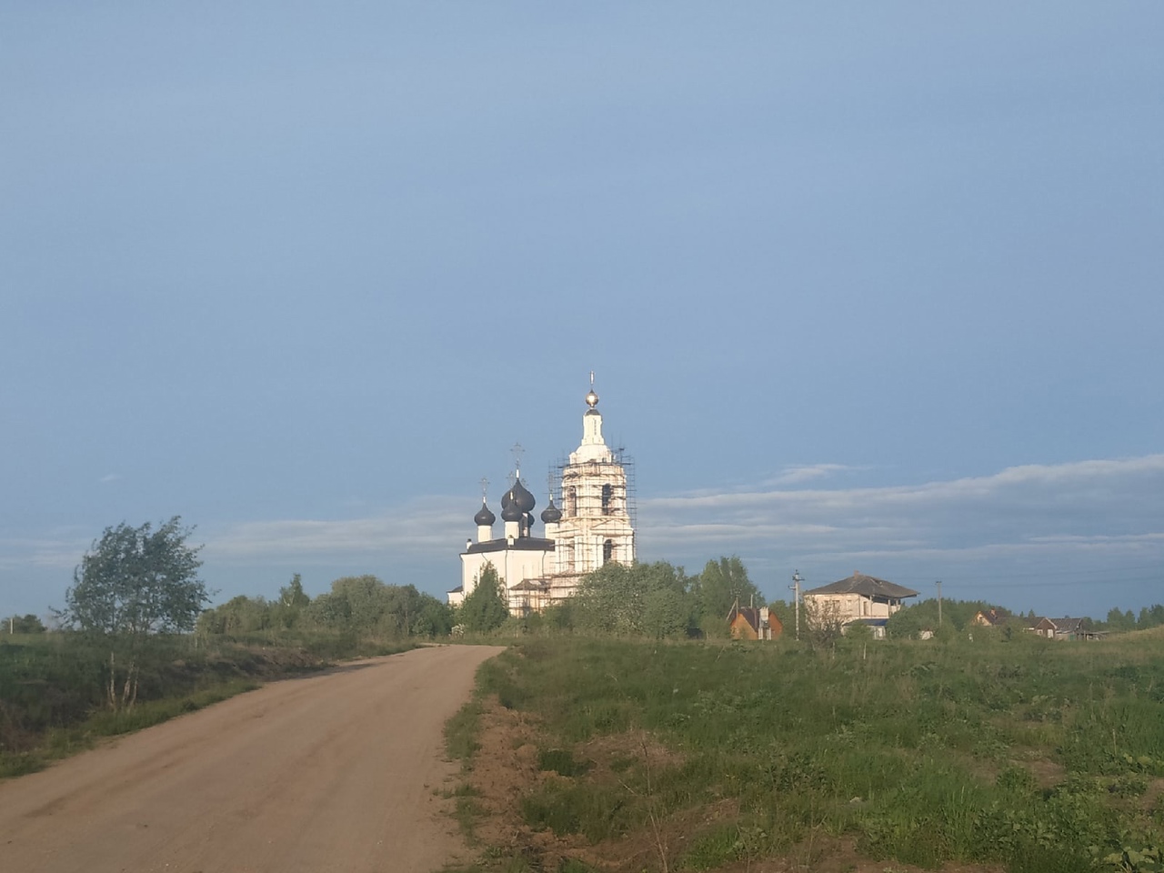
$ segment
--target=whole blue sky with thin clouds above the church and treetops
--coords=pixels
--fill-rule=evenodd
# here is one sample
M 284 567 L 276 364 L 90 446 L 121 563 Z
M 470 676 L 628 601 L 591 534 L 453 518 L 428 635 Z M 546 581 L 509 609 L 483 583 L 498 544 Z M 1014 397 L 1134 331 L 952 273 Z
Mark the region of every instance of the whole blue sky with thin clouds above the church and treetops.
M 591 369 L 644 560 L 1164 601 L 1162 26 L 0 6 L 0 615 L 173 514 L 220 599 L 443 592 Z

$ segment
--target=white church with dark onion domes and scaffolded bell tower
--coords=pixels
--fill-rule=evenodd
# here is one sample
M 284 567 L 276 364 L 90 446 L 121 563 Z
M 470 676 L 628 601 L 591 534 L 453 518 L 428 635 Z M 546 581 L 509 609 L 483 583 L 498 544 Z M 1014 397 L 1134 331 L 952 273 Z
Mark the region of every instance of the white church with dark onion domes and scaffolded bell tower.
M 483 497 L 473 520 L 477 541 L 461 553 L 461 584 L 448 592 L 457 606 L 473 591 L 487 563 L 502 581 L 510 613 L 524 616 L 570 597 L 579 580 L 609 561 L 634 562 L 634 523 L 627 490 L 627 463 L 602 436 L 598 395 L 585 397 L 582 442 L 560 468 L 558 504 L 555 488 L 541 511 L 542 537 L 534 535 L 533 495 L 513 470 L 513 484 L 502 496 L 502 535 L 494 535 L 497 517 Z

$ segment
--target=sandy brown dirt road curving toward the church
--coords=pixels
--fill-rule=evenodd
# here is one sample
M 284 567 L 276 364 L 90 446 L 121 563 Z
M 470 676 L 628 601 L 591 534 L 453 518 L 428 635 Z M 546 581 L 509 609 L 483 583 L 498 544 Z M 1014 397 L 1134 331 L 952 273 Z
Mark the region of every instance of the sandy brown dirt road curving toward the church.
M 463 851 L 442 726 L 498 651 L 276 682 L 0 782 L 0 871 L 431 873 Z

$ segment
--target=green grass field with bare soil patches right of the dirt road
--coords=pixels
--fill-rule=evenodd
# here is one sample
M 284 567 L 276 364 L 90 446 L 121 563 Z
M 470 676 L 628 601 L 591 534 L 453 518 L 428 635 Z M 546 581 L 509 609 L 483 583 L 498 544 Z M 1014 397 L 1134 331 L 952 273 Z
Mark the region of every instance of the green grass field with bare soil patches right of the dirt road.
M 528 640 L 449 743 L 474 870 L 1164 870 L 1159 634 Z

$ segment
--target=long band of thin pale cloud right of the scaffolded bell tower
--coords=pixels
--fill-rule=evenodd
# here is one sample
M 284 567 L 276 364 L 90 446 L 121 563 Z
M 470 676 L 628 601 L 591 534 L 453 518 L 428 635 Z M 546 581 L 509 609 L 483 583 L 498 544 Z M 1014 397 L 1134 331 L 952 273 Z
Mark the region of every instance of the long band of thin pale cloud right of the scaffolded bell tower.
M 1164 556 L 1164 455 L 913 485 L 674 495 L 641 501 L 639 519 L 643 551 L 661 558 L 717 547 L 838 567 Z

